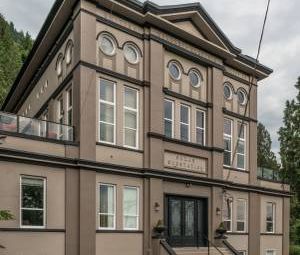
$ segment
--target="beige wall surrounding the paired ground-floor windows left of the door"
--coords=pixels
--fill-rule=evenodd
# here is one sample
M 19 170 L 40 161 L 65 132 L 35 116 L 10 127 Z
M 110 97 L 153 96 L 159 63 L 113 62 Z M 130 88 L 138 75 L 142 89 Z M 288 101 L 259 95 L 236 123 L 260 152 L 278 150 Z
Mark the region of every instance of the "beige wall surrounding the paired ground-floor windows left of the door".
M 116 186 L 116 229 L 123 230 L 123 188 L 126 186 L 139 189 L 139 230 L 143 230 L 143 180 L 138 178 L 123 177 L 110 174 L 96 175 L 96 208 L 99 211 L 99 185 L 112 184 Z M 97 226 L 99 228 L 99 217 L 97 213 Z M 111 241 L 114 243 L 113 241 Z M 116 242 L 117 243 L 117 242 Z

